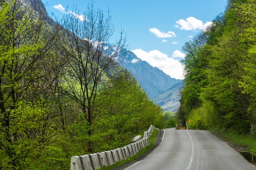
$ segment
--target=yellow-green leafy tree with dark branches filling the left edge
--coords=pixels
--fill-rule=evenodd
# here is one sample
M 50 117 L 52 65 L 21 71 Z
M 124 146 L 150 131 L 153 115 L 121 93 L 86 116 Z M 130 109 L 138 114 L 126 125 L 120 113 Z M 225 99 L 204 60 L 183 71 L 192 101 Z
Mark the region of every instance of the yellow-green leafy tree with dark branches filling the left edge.
M 60 65 L 49 64 L 55 41 L 45 15 L 19 0 L 1 1 L 0 6 L 1 163 L 22 169 L 31 151 L 43 148 L 54 134 L 40 95 L 49 89 Z

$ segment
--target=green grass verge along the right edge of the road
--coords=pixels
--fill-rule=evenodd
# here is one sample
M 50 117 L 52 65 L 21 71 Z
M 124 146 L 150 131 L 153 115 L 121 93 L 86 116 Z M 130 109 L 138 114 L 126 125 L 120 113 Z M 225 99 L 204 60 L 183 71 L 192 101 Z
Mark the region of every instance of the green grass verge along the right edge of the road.
M 211 130 L 211 132 L 230 142 L 231 144 L 238 146 L 240 149 L 247 150 L 253 155 L 256 155 L 256 135 L 249 133 L 238 133 L 233 130 Z

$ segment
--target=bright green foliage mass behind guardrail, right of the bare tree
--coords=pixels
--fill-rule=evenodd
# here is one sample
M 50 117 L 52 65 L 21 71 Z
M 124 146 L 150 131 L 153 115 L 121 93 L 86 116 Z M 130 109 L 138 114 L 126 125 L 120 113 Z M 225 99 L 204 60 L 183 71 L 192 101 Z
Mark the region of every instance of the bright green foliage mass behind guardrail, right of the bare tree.
M 160 107 L 148 100 L 137 81 L 125 70 L 116 73 L 97 100 L 99 110 L 92 140 L 96 151 L 125 146 L 150 124 L 162 125 Z

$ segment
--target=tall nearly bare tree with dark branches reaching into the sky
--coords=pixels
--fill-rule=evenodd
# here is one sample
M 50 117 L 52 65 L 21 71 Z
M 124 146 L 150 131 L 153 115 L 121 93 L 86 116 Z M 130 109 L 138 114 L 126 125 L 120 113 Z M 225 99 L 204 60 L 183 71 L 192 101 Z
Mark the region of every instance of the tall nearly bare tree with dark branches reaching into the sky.
M 108 13 L 105 17 L 101 10 L 94 11 L 93 4 L 88 6 L 83 20 L 67 13 L 62 24 L 68 31 L 63 30 L 66 36 L 60 39 L 59 46 L 62 56 L 69 61 L 63 92 L 79 105 L 80 120 L 87 126 L 87 150 L 92 153 L 90 136 L 93 119 L 97 117 L 96 98 L 107 79 L 106 70 L 124 56 L 120 52 L 126 39 L 121 31 L 120 39 L 109 46 L 114 32 L 111 16 Z

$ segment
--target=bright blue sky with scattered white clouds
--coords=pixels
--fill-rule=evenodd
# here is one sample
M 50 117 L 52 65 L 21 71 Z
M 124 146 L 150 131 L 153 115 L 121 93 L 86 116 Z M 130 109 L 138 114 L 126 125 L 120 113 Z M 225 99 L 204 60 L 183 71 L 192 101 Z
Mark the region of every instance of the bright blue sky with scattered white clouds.
M 150 65 L 176 79 L 183 79 L 182 46 L 221 12 L 227 0 L 42 0 L 48 13 L 62 17 L 77 7 L 79 14 L 94 3 L 105 15 L 110 11 L 118 39 L 126 33 L 129 50 Z M 74 13 L 73 13 L 74 14 Z M 77 15 L 79 15 L 77 14 Z M 72 13 L 70 13 L 72 15 Z M 76 15 L 76 14 L 75 14 Z

